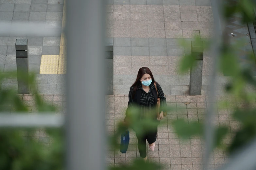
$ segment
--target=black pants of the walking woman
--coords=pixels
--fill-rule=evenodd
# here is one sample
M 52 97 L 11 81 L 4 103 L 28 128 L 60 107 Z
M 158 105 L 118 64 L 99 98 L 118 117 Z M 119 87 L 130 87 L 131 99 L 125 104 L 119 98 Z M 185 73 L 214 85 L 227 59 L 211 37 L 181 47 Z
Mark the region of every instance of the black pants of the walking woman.
M 138 149 L 140 152 L 140 157 L 145 158 L 147 156 L 146 140 L 148 141 L 148 144 L 152 144 L 156 141 L 157 127 L 150 131 L 144 130 L 142 135 L 138 135 L 136 133 L 136 136 L 138 138 Z

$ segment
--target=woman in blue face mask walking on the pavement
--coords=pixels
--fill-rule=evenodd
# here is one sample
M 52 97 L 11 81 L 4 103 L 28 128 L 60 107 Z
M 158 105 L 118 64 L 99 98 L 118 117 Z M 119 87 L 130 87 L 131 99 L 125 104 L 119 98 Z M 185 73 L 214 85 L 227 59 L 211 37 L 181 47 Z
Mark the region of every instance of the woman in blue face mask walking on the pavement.
M 133 106 L 139 106 L 140 113 L 136 115 L 136 119 L 145 120 L 151 119 L 153 121 L 157 121 L 158 123 L 154 123 L 150 128 L 148 126 L 141 126 L 140 129 L 143 133 L 137 133 L 136 136 L 138 138 L 138 149 L 140 152 L 140 157 L 145 161 L 147 160 L 146 155 L 146 140 L 149 145 L 149 149 L 154 151 L 155 141 L 157 138 L 157 125 L 160 123 L 159 121 L 163 119 L 163 109 L 166 106 L 166 98 L 164 97 L 164 93 L 162 88 L 158 83 L 155 83 L 154 77 L 147 67 L 142 67 L 138 71 L 138 75 L 136 81 L 130 87 L 129 91 L 129 101 L 128 108 L 129 110 Z M 155 86 L 156 85 L 156 86 Z M 157 87 L 157 89 L 155 88 Z M 156 113 L 157 106 L 157 97 L 160 98 L 160 114 Z M 129 116 L 126 112 L 125 122 L 128 122 Z

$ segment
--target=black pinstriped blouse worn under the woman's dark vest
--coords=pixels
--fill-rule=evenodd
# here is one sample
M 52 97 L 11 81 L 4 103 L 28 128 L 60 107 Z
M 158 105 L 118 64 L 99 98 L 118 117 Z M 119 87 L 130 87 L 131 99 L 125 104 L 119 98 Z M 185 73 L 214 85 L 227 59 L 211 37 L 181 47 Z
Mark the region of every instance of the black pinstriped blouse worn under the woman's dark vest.
M 157 118 L 157 114 L 155 113 L 155 99 L 152 93 L 152 89 L 155 89 L 154 83 L 152 82 L 149 86 L 150 90 L 148 93 L 146 93 L 143 88 L 141 83 L 138 86 L 138 89 L 141 89 L 141 101 L 140 101 L 140 119 L 145 119 L 146 117 L 151 117 L 152 119 Z M 164 93 L 162 91 L 161 86 L 157 83 L 157 91 L 158 91 L 158 97 L 160 98 L 160 106 L 166 106 L 166 98 L 164 96 Z M 134 99 L 132 98 L 132 92 L 133 92 L 133 87 L 130 88 L 129 92 L 129 101 L 128 101 L 128 108 L 133 106 L 134 104 Z M 161 108 L 160 108 L 161 109 Z M 164 109 L 161 109 L 161 111 L 164 111 Z

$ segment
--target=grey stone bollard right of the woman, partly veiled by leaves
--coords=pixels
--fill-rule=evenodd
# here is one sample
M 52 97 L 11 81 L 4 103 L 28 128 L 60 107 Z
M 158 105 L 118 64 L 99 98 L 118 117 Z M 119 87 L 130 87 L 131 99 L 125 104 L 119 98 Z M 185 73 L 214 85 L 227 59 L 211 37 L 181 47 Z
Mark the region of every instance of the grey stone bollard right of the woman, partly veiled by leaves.
M 203 42 L 191 42 L 191 54 L 196 56 L 195 66 L 190 68 L 189 94 L 201 95 L 203 70 Z

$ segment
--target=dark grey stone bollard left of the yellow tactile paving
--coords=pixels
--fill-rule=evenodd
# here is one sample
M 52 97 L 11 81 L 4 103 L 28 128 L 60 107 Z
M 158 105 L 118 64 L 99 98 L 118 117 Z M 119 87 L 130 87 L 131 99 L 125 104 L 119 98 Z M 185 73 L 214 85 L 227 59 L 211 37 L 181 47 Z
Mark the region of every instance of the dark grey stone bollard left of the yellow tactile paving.
M 27 39 L 16 39 L 16 63 L 18 93 L 29 93 L 29 64 L 28 64 L 28 45 Z

